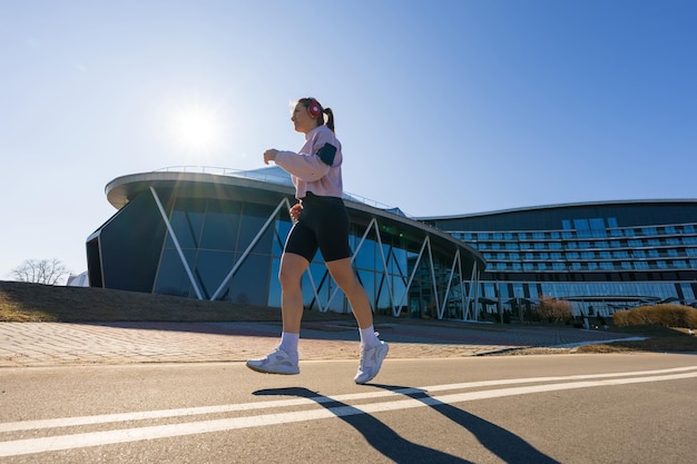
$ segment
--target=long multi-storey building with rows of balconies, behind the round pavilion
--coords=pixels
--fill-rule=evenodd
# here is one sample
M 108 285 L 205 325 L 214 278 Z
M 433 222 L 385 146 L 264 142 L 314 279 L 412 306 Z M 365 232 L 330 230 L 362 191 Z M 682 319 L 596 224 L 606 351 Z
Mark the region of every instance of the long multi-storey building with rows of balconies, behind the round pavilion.
M 517 315 L 541 295 L 577 315 L 697 300 L 697 200 L 634 200 L 422 218 L 477 250 L 483 308 Z

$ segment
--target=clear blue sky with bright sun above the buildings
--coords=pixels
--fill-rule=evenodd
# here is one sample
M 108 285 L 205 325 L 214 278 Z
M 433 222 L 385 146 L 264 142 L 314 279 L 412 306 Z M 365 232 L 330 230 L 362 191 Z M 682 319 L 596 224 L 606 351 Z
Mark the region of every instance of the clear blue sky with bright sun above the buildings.
M 300 148 L 306 96 L 412 216 L 695 198 L 696 50 L 695 0 L 0 0 L 0 279 L 85 270 L 116 177 Z

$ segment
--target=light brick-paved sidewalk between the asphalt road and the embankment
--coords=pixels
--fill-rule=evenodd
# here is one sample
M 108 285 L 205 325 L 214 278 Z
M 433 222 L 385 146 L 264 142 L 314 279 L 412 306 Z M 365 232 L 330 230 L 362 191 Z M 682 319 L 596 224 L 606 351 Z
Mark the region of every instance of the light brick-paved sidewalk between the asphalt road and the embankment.
M 453 322 L 375 324 L 391 358 L 474 356 L 625 338 L 598 330 Z M 273 349 L 275 323 L 0 323 L 0 367 L 242 362 Z M 301 359 L 354 359 L 355 324 L 303 323 Z

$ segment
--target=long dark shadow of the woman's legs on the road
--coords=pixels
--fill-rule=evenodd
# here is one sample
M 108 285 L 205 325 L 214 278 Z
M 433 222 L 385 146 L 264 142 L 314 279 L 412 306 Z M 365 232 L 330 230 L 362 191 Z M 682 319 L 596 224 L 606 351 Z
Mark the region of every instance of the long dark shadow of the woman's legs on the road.
M 536 450 L 516 434 L 450 404 L 442 403 L 429 396 L 426 391 L 393 385 L 369 385 L 402 394 L 423 403 L 472 433 L 483 446 L 499 456 L 503 462 L 520 464 L 559 464 L 558 461 Z M 412 443 L 372 415 L 304 387 L 259 389 L 254 392 L 254 395 L 282 395 L 312 399 L 322 407 L 331 411 L 336 417 L 353 426 L 373 448 L 396 463 L 470 463 L 470 461 L 453 456 L 452 454 Z

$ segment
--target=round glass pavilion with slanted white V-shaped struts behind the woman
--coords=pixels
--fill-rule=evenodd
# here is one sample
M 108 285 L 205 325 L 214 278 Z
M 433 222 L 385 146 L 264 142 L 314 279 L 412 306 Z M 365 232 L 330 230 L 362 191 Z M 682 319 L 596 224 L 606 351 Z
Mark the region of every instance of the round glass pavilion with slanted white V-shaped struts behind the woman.
M 90 286 L 279 307 L 294 191 L 278 167 L 116 178 L 106 194 L 117 213 L 87 239 Z M 397 208 L 344 201 L 354 269 L 376 313 L 477 319 L 487 263 L 475 248 Z M 350 312 L 320 253 L 302 284 L 307 309 Z

